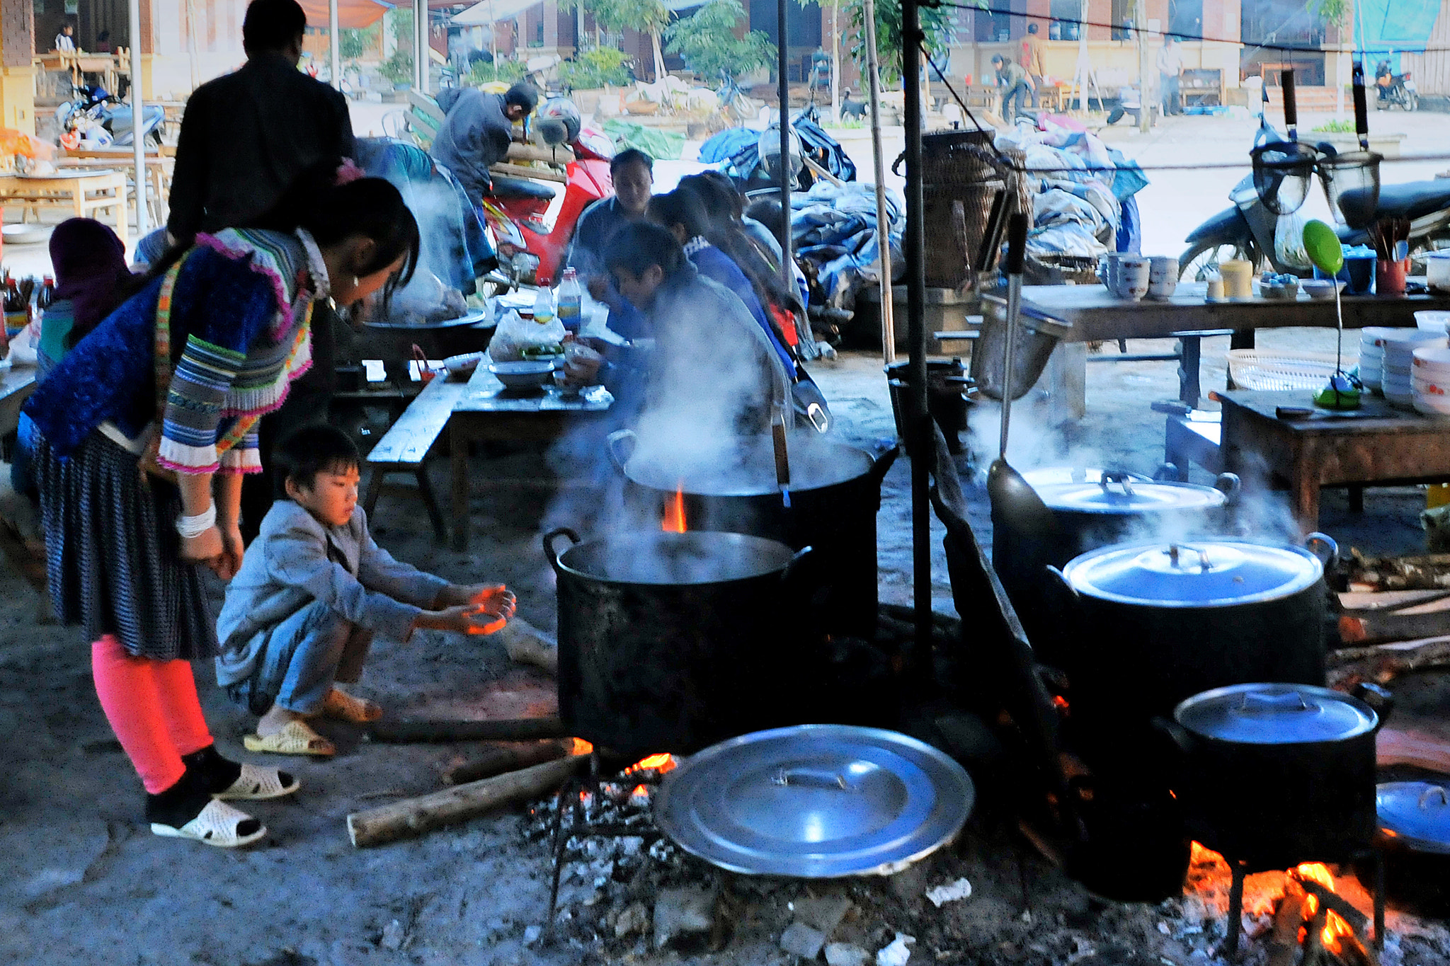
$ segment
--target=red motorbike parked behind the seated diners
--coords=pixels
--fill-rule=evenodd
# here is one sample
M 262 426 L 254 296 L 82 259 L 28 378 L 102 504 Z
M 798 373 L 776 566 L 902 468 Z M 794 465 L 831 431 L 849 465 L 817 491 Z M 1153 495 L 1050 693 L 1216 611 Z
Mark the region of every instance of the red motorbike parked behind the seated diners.
M 551 114 L 548 112 L 552 104 L 550 101 L 541 109 L 542 120 L 536 123 L 544 143 L 550 143 L 551 135 L 558 132 L 563 136 L 554 143 L 568 143 L 574 151 L 574 161 L 566 168 L 568 181 L 554 223 L 548 223 L 548 211 L 557 191 L 544 181 L 496 175 L 493 191 L 481 204 L 484 222 L 493 232 L 499 251 L 500 278 L 494 281 L 509 287 L 552 285 L 563 269 L 579 217 L 584 209 L 615 190 L 613 178 L 609 177 L 613 142 L 608 135 L 583 129 L 577 110 L 573 116 L 567 113 L 573 104 L 555 109 L 560 113 Z M 550 130 L 545 123 L 551 119 L 563 123 Z

